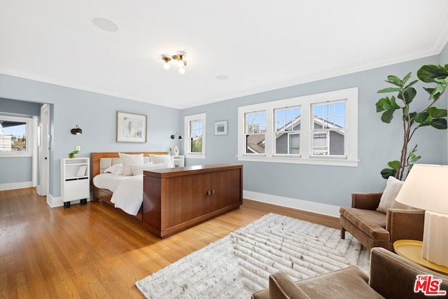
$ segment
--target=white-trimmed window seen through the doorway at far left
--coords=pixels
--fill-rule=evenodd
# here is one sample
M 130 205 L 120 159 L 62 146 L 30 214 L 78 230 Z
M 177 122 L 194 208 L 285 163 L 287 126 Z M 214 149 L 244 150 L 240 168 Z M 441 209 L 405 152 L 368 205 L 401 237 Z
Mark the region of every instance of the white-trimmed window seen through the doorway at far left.
M 32 154 L 32 118 L 0 115 L 0 157 Z

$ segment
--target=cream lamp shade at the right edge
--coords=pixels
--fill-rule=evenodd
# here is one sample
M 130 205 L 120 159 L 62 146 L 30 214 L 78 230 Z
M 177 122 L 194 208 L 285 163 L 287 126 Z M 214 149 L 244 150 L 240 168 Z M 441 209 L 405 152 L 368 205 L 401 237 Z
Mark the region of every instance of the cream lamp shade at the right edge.
M 414 165 L 395 200 L 417 209 L 448 214 L 448 166 Z

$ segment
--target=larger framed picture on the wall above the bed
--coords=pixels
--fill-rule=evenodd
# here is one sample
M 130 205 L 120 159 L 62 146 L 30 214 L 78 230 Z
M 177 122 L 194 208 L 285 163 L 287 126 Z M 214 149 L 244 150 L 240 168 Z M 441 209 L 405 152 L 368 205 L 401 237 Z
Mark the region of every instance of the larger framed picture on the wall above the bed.
M 117 111 L 117 142 L 146 143 L 146 116 Z

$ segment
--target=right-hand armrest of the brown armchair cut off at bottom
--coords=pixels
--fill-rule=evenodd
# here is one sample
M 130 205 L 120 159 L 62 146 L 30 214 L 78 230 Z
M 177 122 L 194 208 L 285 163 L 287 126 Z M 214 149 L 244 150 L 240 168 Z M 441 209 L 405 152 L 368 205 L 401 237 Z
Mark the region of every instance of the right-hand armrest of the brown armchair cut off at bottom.
M 448 289 L 446 275 L 421 267 L 384 248 L 372 249 L 369 284 L 384 298 L 425 298 L 423 293 L 414 293 L 416 275 L 419 274 L 431 274 L 435 279 L 442 279 L 440 290 Z

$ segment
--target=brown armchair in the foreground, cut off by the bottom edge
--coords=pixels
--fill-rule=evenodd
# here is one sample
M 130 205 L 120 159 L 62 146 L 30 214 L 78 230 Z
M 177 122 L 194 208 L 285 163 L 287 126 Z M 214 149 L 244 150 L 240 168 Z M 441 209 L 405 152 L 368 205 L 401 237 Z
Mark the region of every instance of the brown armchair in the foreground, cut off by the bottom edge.
M 441 279 L 440 291 L 448 291 L 448 276 L 377 247 L 371 251 L 370 278 L 357 267 L 295 282 L 284 272 L 276 272 L 269 276 L 269 288 L 253 293 L 252 298 L 428 298 L 421 291 L 414 292 L 419 274 L 433 275 L 433 280 Z

